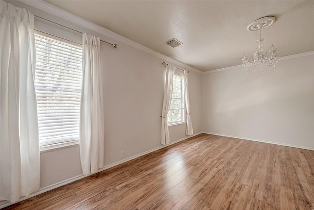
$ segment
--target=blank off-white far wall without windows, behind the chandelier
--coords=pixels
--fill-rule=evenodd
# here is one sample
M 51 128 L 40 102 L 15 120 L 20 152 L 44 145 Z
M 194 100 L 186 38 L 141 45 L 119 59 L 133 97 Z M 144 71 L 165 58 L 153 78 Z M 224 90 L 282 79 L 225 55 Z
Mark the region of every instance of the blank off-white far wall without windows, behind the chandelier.
M 247 75 L 204 74 L 202 131 L 314 149 L 314 53 Z

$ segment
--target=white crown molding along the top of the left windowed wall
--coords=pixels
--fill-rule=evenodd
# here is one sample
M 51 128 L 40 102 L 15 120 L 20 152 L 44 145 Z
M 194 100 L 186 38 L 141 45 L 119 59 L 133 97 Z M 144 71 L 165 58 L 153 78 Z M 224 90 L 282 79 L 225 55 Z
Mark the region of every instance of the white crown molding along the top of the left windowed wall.
M 193 72 L 196 72 L 198 74 L 203 73 L 202 71 L 195 69 L 189 65 L 186 65 L 179 60 L 173 59 L 173 58 L 168 57 L 168 56 L 161 54 L 161 53 L 157 53 L 156 51 L 153 51 L 153 50 L 151 50 L 151 49 L 149 49 L 143 45 L 140 45 L 140 44 L 124 37 L 124 36 L 121 36 L 117 33 L 114 33 L 114 32 L 112 32 L 112 31 L 110 31 L 110 30 L 108 30 L 102 26 L 98 26 L 97 24 L 91 23 L 91 22 L 89 22 L 83 18 L 80 18 L 76 15 L 73 15 L 72 13 L 69 13 L 63 9 L 56 7 L 56 6 L 53 6 L 52 4 L 49 4 L 43 0 L 19 0 L 19 1 L 26 3 L 26 4 L 32 6 L 36 9 L 39 9 L 41 11 L 47 12 L 51 15 L 65 19 L 71 23 L 77 24 L 78 26 L 82 26 L 84 28 L 93 30 L 97 33 L 100 33 L 100 34 L 105 35 L 109 38 L 112 38 L 118 42 L 122 42 L 124 44 L 127 44 L 127 45 L 129 45 L 135 49 L 141 50 L 145 53 L 149 53 L 149 54 L 152 54 L 154 56 L 157 56 L 157 57 L 159 57 L 165 61 L 168 61 L 168 62 L 173 63 L 175 65 L 178 65 L 180 67 L 183 67 L 186 70 L 193 71 Z

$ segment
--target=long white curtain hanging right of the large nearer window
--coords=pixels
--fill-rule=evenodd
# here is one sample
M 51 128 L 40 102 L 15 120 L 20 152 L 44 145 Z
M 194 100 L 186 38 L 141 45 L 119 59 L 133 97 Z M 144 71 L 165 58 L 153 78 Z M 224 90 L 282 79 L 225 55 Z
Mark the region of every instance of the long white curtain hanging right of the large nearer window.
M 79 151 L 83 174 L 104 167 L 104 105 L 100 38 L 83 33 Z

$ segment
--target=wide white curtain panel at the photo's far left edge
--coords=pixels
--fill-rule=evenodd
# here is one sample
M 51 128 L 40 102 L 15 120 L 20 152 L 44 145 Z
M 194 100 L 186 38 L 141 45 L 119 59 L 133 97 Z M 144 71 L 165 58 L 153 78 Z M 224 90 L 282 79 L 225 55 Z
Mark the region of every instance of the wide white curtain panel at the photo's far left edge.
M 0 0 L 0 200 L 39 188 L 34 16 Z

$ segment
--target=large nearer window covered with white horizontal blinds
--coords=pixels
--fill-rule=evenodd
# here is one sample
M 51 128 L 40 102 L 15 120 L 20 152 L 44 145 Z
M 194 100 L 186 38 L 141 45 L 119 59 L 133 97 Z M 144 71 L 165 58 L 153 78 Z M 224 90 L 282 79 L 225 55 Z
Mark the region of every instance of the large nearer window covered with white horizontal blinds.
M 82 48 L 35 35 L 39 142 L 41 150 L 77 143 Z

